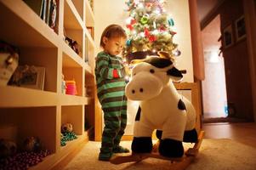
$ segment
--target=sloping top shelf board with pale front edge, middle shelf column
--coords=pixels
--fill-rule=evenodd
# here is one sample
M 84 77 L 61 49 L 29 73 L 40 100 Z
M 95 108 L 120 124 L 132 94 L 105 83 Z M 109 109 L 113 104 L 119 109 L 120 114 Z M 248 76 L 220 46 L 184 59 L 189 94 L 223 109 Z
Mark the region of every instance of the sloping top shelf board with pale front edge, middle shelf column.
M 64 3 L 64 27 L 65 29 L 78 30 L 82 30 L 83 27 L 81 16 L 71 0 L 65 0 Z

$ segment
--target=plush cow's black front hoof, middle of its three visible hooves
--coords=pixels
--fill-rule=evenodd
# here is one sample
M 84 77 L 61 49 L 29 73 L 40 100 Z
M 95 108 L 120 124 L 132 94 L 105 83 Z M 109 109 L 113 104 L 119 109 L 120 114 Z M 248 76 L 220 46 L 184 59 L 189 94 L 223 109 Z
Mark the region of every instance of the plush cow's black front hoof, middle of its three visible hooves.
M 181 157 L 184 154 L 184 148 L 181 141 L 163 139 L 159 144 L 159 153 L 167 157 Z

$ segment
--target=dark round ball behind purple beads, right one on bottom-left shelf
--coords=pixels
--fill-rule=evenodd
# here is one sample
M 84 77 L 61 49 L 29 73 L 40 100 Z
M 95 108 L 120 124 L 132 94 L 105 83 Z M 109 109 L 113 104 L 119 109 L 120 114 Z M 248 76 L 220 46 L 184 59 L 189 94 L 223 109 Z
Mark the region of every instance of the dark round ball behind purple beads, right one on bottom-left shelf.
M 22 148 L 23 151 L 39 152 L 42 150 L 42 143 L 39 138 L 31 136 L 24 140 Z

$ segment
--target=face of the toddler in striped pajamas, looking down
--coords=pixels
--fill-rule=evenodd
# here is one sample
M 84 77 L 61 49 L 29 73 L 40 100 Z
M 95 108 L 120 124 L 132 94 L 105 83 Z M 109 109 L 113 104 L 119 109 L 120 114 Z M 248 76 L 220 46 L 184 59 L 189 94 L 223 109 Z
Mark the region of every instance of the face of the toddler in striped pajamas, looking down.
M 105 51 L 111 55 L 118 55 L 122 52 L 122 48 L 126 39 L 124 37 L 105 37 Z

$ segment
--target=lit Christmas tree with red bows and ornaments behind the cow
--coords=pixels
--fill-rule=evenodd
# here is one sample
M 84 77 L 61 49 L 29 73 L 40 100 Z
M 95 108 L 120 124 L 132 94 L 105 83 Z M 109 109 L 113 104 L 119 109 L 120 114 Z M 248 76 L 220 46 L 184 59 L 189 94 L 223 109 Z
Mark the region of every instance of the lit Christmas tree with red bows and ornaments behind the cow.
M 128 62 L 143 59 L 159 51 L 171 57 L 179 55 L 173 42 L 174 20 L 164 10 L 164 0 L 128 0 L 129 17 L 126 20 L 128 41 L 123 51 Z

